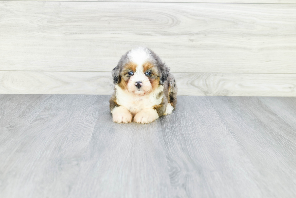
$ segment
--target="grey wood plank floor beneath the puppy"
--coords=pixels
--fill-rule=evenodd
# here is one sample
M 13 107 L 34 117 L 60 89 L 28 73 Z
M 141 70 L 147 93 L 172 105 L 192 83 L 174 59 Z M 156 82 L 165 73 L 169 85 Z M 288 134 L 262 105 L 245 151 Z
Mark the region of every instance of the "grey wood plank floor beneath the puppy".
M 179 96 L 141 125 L 109 97 L 0 95 L 0 197 L 296 196 L 296 98 Z

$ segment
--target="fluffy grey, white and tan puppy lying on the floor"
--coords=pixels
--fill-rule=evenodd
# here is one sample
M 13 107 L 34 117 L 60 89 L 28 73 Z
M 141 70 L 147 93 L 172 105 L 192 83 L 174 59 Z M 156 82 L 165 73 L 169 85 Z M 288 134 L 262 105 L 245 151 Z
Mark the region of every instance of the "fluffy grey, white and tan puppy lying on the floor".
M 169 67 L 150 49 L 128 51 L 112 70 L 110 99 L 113 122 L 150 123 L 168 115 L 177 103 L 177 86 Z

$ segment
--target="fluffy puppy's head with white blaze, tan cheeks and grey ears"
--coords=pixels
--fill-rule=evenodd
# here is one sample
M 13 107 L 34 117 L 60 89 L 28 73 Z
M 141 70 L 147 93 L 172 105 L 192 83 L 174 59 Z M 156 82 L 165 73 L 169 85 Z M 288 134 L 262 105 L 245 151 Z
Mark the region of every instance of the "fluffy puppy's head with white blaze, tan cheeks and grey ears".
M 112 70 L 113 82 L 134 95 L 146 95 L 157 89 L 169 76 L 169 68 L 150 49 L 128 51 Z

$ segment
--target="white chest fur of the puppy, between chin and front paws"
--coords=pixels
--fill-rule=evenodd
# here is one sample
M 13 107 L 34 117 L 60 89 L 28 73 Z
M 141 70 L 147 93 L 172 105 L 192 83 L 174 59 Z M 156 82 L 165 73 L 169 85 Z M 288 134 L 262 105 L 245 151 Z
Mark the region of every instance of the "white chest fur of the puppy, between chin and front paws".
M 162 97 L 157 95 L 163 91 L 163 86 L 159 86 L 153 92 L 145 96 L 136 96 L 122 90 L 118 85 L 116 87 L 116 102 L 118 105 L 124 106 L 132 113 L 140 112 L 142 109 L 152 108 L 155 105 L 159 105 L 162 101 Z

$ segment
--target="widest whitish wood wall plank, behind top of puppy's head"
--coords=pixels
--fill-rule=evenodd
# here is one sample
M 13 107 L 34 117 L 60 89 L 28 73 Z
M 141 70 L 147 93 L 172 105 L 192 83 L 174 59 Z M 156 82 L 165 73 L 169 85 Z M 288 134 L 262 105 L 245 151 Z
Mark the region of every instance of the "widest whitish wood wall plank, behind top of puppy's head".
M 172 72 L 296 73 L 296 5 L 0 2 L 0 70 L 111 71 L 150 47 Z

